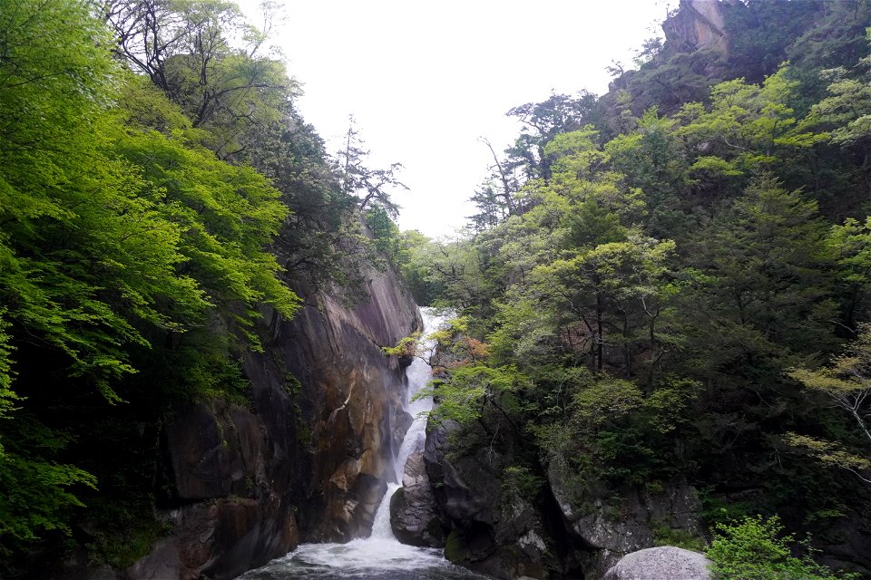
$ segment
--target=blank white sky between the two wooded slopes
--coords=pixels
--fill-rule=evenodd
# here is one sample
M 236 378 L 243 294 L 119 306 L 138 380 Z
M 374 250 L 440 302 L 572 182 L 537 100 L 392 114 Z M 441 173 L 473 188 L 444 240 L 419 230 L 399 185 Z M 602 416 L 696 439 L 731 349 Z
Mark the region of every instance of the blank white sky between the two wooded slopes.
M 258 0 L 240 5 L 254 24 Z M 674 4 L 673 2 L 671 3 Z M 666 0 L 286 0 L 270 35 L 302 84 L 298 111 L 339 149 L 353 114 L 367 167 L 404 169 L 401 229 L 451 237 L 520 131 L 505 112 L 551 92 L 602 94 L 606 67 L 660 36 Z

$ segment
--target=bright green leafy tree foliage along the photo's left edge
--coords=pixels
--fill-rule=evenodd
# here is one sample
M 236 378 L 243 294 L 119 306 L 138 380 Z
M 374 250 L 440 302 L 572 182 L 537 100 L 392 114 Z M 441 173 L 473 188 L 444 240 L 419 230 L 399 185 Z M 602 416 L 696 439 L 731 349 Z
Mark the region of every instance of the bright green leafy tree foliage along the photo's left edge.
M 163 94 L 114 58 L 132 37 L 115 43 L 92 4 L 0 6 L 0 105 L 14 111 L 0 121 L 0 551 L 10 561 L 68 534 L 98 484 L 107 493 L 124 480 L 133 500 L 144 495 L 152 473 L 137 481 L 116 465 L 107 475 L 115 463 L 79 439 L 103 429 L 148 449 L 130 433 L 178 401 L 245 403 L 237 359 L 258 347 L 259 308 L 298 308 L 267 251 L 289 218 L 281 192 L 227 162 L 240 160 L 248 121 L 279 120 L 289 83 L 278 63 L 219 42 L 221 14 L 233 11 L 219 4 L 152 5 L 196 21 L 160 71 L 146 71 L 163 75 Z M 103 15 L 142 6 L 108 3 Z M 208 56 L 197 26 L 215 41 Z M 196 59 L 206 85 L 191 84 Z M 127 460 L 151 465 L 137 453 Z M 136 555 L 154 536 L 142 537 Z M 106 542 L 102 557 L 135 557 Z

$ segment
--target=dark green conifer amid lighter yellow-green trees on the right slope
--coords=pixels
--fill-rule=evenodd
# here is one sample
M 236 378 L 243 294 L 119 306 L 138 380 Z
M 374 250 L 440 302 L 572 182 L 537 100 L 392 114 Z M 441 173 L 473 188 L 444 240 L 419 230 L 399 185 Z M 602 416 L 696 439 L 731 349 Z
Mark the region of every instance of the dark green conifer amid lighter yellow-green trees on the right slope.
M 794 357 L 831 348 L 825 231 L 817 203 L 770 176 L 699 230 L 682 308 L 710 378 L 740 369 L 764 388 Z

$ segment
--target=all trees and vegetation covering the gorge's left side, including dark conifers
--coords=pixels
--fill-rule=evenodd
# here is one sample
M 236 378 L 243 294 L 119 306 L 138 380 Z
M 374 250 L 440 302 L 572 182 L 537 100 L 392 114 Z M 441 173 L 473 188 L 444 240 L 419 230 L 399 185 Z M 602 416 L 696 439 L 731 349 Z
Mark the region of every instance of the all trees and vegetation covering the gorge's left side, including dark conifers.
M 142 556 L 173 406 L 246 403 L 287 281 L 353 298 L 377 256 L 392 173 L 328 159 L 266 40 L 220 0 L 0 2 L 0 575 Z

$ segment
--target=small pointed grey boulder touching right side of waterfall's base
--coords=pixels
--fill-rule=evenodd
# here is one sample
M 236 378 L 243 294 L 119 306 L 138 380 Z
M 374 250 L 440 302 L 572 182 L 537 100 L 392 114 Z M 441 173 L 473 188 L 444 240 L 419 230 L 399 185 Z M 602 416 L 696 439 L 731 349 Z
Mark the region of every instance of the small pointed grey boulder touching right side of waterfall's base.
M 402 488 L 390 498 L 390 527 L 403 544 L 445 547 L 445 522 L 438 514 L 423 451 L 413 453 L 406 461 Z

